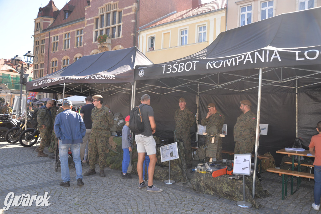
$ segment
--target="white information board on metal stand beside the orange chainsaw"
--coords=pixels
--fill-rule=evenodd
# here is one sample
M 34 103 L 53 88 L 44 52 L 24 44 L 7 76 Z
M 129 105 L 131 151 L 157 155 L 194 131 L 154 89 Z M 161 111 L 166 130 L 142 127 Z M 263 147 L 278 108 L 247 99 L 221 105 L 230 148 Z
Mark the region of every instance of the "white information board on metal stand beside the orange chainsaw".
M 243 175 L 243 201 L 237 201 L 239 207 L 251 208 L 252 204 L 245 201 L 245 175 L 251 175 L 252 154 L 234 154 L 233 174 Z

